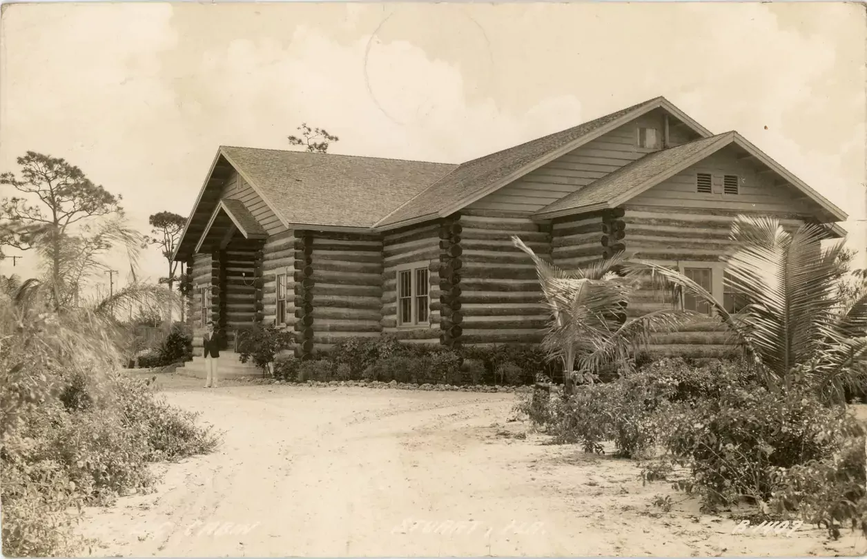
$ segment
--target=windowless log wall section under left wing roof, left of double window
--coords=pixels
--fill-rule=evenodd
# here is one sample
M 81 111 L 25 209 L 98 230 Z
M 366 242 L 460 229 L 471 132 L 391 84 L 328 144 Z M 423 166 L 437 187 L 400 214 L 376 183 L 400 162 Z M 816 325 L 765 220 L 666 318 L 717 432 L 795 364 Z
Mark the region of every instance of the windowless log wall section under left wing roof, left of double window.
M 309 258 L 300 260 L 302 255 L 297 255 L 297 281 L 309 280 L 312 299 L 298 315 L 304 321 L 303 338 L 310 339 L 309 349 L 327 351 L 346 337 L 379 336 L 381 237 L 319 231 L 305 233 L 303 239 L 298 248 L 307 250 Z M 299 292 L 303 290 L 299 286 Z

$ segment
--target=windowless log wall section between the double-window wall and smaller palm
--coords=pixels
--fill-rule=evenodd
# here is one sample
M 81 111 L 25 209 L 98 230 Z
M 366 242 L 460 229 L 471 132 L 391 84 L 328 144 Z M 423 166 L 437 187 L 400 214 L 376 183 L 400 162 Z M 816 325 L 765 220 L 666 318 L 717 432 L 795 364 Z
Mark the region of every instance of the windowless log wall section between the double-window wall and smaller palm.
M 511 238 L 550 257 L 550 233 L 526 217 L 479 210 L 462 212 L 460 225 L 463 344 L 541 341 L 549 314 L 536 267 Z

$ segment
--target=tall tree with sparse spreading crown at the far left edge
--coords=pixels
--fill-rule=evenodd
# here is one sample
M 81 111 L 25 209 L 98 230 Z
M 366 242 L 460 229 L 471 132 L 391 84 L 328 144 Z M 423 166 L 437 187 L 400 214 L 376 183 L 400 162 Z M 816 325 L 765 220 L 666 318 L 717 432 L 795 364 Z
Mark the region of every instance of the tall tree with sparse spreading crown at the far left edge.
M 59 157 L 28 151 L 17 158 L 17 164 L 21 167 L 21 177 L 5 172 L 0 174 L 0 184 L 9 184 L 29 195 L 29 199 L 12 196 L 0 201 L 0 220 L 21 228 L 17 231 L 4 229 L 6 233 L 0 241 L 21 250 L 41 249 L 49 260 L 53 302 L 58 308 L 62 305 L 62 293 L 66 291 L 64 262 L 68 262 L 70 254 L 80 254 L 82 244 L 88 244 L 88 240 L 79 235 L 80 231 L 71 235 L 72 228 L 86 226 L 88 220 L 100 216 L 122 217 L 121 196 L 114 196 L 91 182 L 81 169 Z M 34 199 L 38 202 L 31 203 Z M 89 245 L 91 251 L 104 249 L 104 241 L 108 241 L 109 236 L 95 235 L 92 241 L 97 247 Z

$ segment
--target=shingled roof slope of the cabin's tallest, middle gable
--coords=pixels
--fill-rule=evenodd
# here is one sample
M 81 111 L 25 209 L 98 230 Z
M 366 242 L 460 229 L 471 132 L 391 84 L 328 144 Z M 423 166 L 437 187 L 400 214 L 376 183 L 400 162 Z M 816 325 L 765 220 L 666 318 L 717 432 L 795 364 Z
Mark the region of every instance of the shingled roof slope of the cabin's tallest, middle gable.
M 497 151 L 491 155 L 460 164 L 448 175 L 431 184 L 426 190 L 421 191 L 418 196 L 409 200 L 401 208 L 396 209 L 394 213 L 388 215 L 377 225 L 384 226 L 433 214 L 508 177 L 525 167 L 525 165 L 531 164 L 540 157 L 544 157 L 551 151 L 570 144 L 590 134 L 590 132 L 594 132 L 602 126 L 609 124 L 613 120 L 619 119 L 629 112 L 636 111 L 642 108 L 642 106 L 647 106 L 660 99 L 647 100 L 621 111 L 612 112 L 596 120 L 585 122 L 582 125 L 574 126 L 568 130 L 555 132 L 543 138 L 537 138 L 525 144 L 516 145 L 507 150 Z

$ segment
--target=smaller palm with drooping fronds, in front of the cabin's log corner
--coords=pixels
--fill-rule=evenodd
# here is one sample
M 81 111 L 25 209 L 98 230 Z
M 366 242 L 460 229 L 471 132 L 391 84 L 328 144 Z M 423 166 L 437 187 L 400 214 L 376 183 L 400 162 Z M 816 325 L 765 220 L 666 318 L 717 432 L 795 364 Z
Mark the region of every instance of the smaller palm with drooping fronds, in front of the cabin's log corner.
M 626 261 L 623 254 L 567 273 L 539 258 L 518 236 L 512 236 L 512 242 L 536 264 L 551 311 L 542 346 L 551 359 L 563 363 L 567 385 L 579 378 L 592 382 L 608 363 L 631 369 L 631 357 L 652 334 L 675 330 L 692 318 L 689 312 L 661 309 L 627 320 L 625 309 L 636 284 L 617 273 Z

